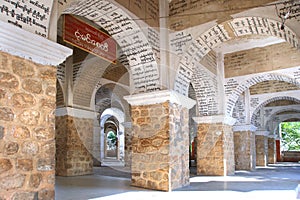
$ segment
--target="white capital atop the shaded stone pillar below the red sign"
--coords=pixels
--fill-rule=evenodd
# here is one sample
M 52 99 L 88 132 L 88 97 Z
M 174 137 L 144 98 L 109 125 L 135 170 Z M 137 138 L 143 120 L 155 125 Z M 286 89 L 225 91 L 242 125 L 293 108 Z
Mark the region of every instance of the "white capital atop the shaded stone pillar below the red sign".
M 97 117 L 97 113 L 94 111 L 82 110 L 78 108 L 64 107 L 64 108 L 57 108 L 55 110 L 55 116 L 61 117 L 65 115 L 78 117 L 78 118 L 86 118 L 86 119 L 95 119 Z

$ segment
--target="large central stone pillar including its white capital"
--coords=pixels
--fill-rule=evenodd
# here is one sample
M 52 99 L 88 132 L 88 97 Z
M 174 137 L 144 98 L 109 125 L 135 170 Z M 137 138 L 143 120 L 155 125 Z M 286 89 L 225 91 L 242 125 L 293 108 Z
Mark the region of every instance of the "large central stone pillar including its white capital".
M 132 185 L 162 191 L 189 185 L 188 109 L 195 101 L 173 91 L 125 99 L 133 120 Z

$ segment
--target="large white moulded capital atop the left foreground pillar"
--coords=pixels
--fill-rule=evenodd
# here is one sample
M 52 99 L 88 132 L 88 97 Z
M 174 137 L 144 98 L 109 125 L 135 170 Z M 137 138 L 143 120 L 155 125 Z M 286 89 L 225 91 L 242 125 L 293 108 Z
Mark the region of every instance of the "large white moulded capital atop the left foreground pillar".
M 53 66 L 62 63 L 73 52 L 72 49 L 3 21 L 0 21 L 0 51 Z

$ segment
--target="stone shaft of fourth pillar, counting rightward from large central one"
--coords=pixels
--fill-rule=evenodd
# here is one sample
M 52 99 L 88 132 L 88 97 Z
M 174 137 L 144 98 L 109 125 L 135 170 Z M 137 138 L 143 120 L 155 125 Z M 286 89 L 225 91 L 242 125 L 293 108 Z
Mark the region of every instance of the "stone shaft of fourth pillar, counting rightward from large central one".
M 267 166 L 268 138 L 263 135 L 256 135 L 255 146 L 256 146 L 256 165 L 264 166 L 264 167 Z

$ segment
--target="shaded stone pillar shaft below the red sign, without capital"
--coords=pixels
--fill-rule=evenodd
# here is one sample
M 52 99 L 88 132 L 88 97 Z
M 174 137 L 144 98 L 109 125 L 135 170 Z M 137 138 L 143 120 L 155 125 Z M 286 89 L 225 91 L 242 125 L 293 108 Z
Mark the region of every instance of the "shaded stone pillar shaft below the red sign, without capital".
M 93 119 L 56 117 L 56 175 L 93 173 Z

